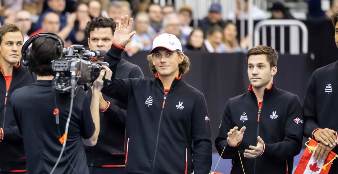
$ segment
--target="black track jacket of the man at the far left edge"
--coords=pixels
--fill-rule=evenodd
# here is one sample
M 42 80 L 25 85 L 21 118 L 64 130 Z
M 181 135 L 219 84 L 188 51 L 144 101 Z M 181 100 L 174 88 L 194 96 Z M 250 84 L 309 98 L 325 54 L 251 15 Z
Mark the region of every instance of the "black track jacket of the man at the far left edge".
M 15 122 L 10 105 L 6 105 L 12 93 L 23 86 L 33 83 L 28 70 L 19 65 L 13 67 L 12 80 L 6 93 L 6 80 L 0 73 L 0 127 L 3 129 L 3 140 L 0 142 L 0 172 L 26 171 L 26 155 L 23 139 Z

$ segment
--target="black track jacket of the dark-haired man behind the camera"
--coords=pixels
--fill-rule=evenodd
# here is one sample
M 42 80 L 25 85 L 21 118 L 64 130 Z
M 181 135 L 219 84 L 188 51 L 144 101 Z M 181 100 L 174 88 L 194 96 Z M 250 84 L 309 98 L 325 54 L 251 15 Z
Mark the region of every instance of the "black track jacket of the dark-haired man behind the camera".
M 116 77 L 139 78 L 143 77 L 139 66 L 122 59 L 117 65 Z M 88 91 L 91 102 L 92 91 Z M 109 107 L 100 113 L 100 133 L 95 146 L 84 146 L 88 166 L 94 167 L 124 167 L 125 166 L 125 117 L 126 104 L 103 95 L 110 102 Z M 119 122 L 120 121 L 120 122 Z

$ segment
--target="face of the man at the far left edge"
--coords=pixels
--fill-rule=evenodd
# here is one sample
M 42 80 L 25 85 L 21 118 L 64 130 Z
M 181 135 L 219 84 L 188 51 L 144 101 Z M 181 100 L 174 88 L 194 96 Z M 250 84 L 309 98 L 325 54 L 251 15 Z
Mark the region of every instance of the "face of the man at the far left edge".
M 0 45 L 0 62 L 18 65 L 21 58 L 23 37 L 20 31 L 7 32 L 2 36 Z

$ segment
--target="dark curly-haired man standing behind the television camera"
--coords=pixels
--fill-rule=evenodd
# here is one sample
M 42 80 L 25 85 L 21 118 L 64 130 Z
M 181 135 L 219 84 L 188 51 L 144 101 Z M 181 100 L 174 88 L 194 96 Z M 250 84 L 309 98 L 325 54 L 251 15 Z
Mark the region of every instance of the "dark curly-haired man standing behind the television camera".
M 113 42 L 116 23 L 112 18 L 97 17 L 87 24 L 88 45 L 91 50 L 108 51 Z M 103 61 L 103 57 L 96 58 Z M 122 59 L 117 65 L 116 77 L 139 78 L 139 66 Z M 88 92 L 90 98 L 91 93 Z M 100 98 L 100 134 L 94 147 L 86 147 L 91 174 L 124 174 L 125 167 L 125 109 L 126 104 L 105 95 Z M 121 109 L 124 109 L 123 111 Z

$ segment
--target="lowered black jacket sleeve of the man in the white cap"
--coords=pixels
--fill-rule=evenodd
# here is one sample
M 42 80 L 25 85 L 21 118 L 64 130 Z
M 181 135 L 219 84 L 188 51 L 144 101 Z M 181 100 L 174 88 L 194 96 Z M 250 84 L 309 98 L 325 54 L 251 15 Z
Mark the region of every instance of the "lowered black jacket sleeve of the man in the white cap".
M 210 140 L 210 121 L 206 100 L 203 94 L 198 99 L 191 118 L 191 134 L 193 139 L 192 159 L 195 174 L 206 174 L 211 170 L 212 143 Z

